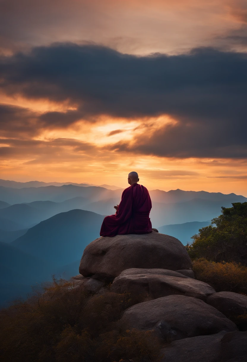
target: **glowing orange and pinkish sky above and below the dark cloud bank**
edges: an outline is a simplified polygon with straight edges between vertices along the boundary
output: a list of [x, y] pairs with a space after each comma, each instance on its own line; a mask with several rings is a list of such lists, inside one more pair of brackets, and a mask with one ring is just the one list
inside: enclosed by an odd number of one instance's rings
[[[26, 8], [22, 13], [21, 3]], [[3, 25], [0, 27], [0, 49], [5, 58], [16, 51], [29, 52], [33, 46], [64, 41], [95, 43], [135, 55], [186, 54], [199, 46], [246, 52], [247, 41], [236, 41], [247, 39], [245, 1], [45, 0], [42, 8], [38, 1], [21, 3], [11, 0], [1, 5], [9, 22], [9, 26], [5, 24], [6, 31]], [[0, 85], [3, 83], [0, 78]], [[78, 110], [80, 102], [72, 96], [61, 100], [49, 95], [34, 97], [13, 86], [2, 87], [1, 105], [18, 107], [20, 118], [17, 112], [16, 118], [10, 119], [12, 126], [6, 127], [3, 121], [0, 130], [0, 178], [124, 188], [127, 174], [137, 171], [140, 182], [149, 189], [179, 188], [247, 196], [245, 156], [213, 157], [211, 152], [208, 156], [162, 156], [153, 148], [142, 151], [140, 145], [155, 142], [156, 135], [159, 138], [169, 127], [180, 127], [181, 120], [172, 113], [123, 117], [102, 112], [66, 125], [38, 126], [37, 119], [42, 115], [66, 115]], [[190, 120], [186, 122], [190, 127]]]

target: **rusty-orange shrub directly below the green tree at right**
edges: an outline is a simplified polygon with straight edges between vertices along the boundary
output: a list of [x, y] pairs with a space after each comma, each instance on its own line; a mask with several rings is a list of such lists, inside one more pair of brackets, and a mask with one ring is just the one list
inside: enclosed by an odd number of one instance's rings
[[231, 291], [247, 294], [247, 267], [235, 262], [211, 262], [199, 259], [193, 262], [198, 280], [211, 285], [217, 292]]

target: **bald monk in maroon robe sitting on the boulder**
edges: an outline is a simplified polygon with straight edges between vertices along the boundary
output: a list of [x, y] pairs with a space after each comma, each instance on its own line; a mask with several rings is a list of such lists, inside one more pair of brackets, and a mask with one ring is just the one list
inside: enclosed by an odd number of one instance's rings
[[149, 219], [152, 208], [151, 199], [146, 187], [138, 185], [138, 181], [137, 172], [130, 172], [128, 175], [130, 186], [123, 190], [120, 204], [114, 206], [116, 214], [104, 218], [100, 236], [152, 232]]

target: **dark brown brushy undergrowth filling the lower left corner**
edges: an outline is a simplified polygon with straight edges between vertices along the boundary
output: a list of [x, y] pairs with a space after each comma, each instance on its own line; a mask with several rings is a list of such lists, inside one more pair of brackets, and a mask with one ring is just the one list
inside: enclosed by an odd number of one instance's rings
[[129, 294], [89, 295], [78, 285], [53, 280], [25, 302], [0, 312], [3, 362], [112, 362], [158, 360], [159, 341], [151, 331], [121, 331], [123, 311], [142, 300]]

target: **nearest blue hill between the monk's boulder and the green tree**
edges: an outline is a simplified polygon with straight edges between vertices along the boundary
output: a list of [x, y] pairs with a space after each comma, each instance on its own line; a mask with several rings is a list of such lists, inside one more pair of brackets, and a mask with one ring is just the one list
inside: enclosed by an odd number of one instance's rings
[[208, 226], [211, 221], [198, 222], [193, 221], [184, 224], [172, 224], [172, 225], [164, 225], [158, 228], [159, 232], [162, 234], [167, 234], [176, 237], [180, 240], [183, 245], [186, 245], [188, 242], [190, 243], [191, 236], [198, 233], [198, 230], [202, 227]]

